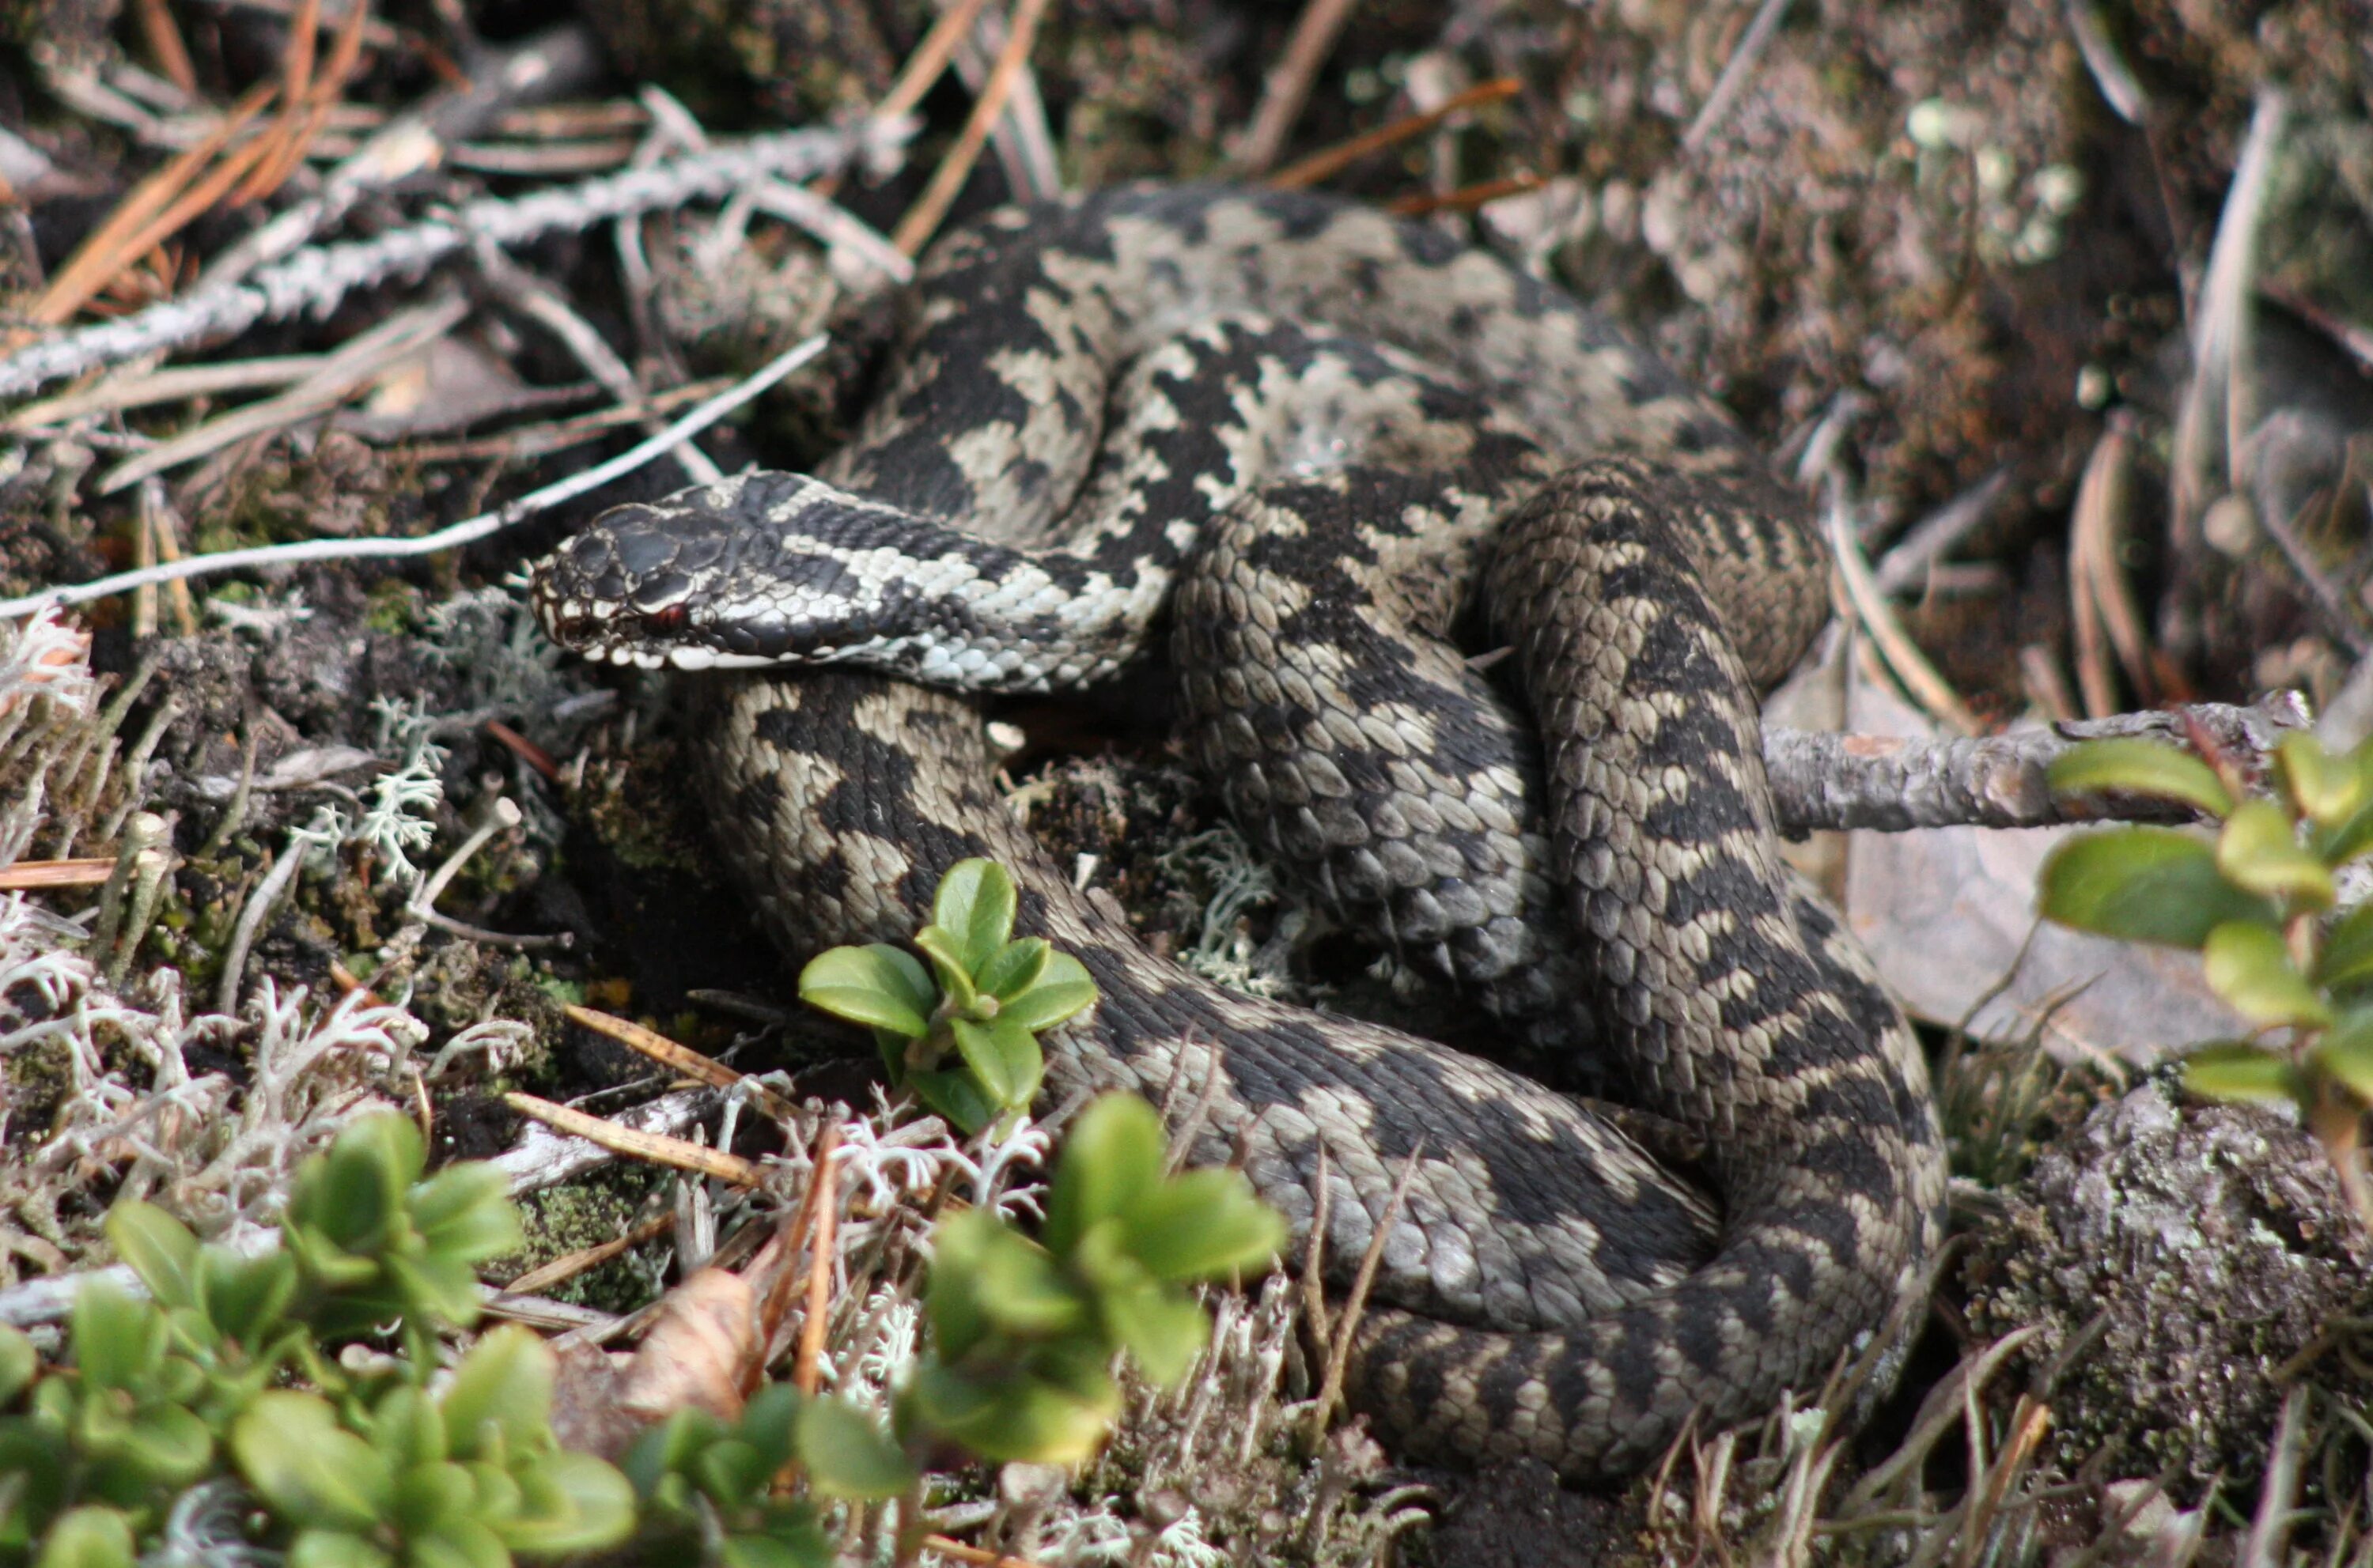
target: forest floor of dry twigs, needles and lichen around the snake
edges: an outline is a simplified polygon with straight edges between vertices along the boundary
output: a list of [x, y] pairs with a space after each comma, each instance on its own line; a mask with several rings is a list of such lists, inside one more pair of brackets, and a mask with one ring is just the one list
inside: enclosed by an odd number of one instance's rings
[[[515, 593], [688, 470], [501, 508], [821, 332], [698, 436], [724, 472], [812, 463], [906, 259], [1016, 195], [1315, 185], [1628, 323], [1872, 562], [1884, 605], [1784, 697], [1803, 724], [2297, 688], [2328, 738], [2373, 731], [2352, 0], [973, 9], [940, 78], [916, 71], [925, 0], [0, 0], [0, 595], [332, 541], [97, 598], [0, 659], [0, 887], [24, 894], [0, 906], [0, 1317], [55, 1321], [55, 1283], [109, 1262], [116, 1196], [252, 1231], [330, 1129], [392, 1103], [439, 1158], [505, 1160], [532, 1245], [489, 1276], [536, 1276], [515, 1314], [617, 1345], [693, 1264], [750, 1257], [826, 1124], [857, 1129], [831, 1355], [888, 1355], [923, 1231], [899, 1188], [980, 1150], [899, 1132], [871, 1046], [802, 1015], [717, 894], [667, 683], [562, 659]], [[278, 97], [242, 102], [259, 85]], [[985, 93], [1004, 109], [966, 173]], [[911, 140], [864, 130], [883, 107]], [[683, 173], [783, 128], [814, 147]], [[861, 159], [819, 183], [826, 142]], [[669, 195], [603, 206], [636, 168]], [[399, 256], [430, 230], [437, 254]], [[308, 270], [337, 242], [380, 244], [351, 287]], [[93, 325], [242, 282], [285, 299], [131, 346]], [[484, 515], [448, 550], [377, 548]], [[1213, 977], [1471, 1037], [1381, 954], [1289, 939], [1139, 697], [999, 714], [1061, 861], [1094, 856]], [[1872, 942], [1932, 1046], [1955, 1243], [1860, 1430], [1780, 1411], [1597, 1492], [1417, 1471], [1357, 1426], [1310, 1433], [1272, 1288], [1229, 1298], [1191, 1388], [1139, 1390], [1082, 1475], [973, 1473], [937, 1528], [1044, 1563], [2361, 1561], [2373, 1243], [2321, 1148], [2162, 1070], [2216, 1032], [2197, 973], [2091, 946], [1998, 984], [2031, 958], [2043, 840], [1984, 866], [1970, 837], [1870, 840], [1808, 859], [1858, 928], [1941, 887], [1970, 925]], [[721, 1122], [589, 1008], [785, 1075], [797, 1113]], [[600, 1155], [522, 1096], [660, 1141]]]

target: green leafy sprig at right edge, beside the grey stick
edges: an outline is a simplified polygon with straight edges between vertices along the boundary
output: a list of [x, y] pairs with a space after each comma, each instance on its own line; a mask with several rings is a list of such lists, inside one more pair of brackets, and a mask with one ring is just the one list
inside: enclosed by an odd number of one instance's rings
[[2209, 989], [2254, 1034], [2193, 1051], [2183, 1082], [2224, 1101], [2288, 1101], [2373, 1224], [2361, 1172], [2373, 1105], [2373, 901], [2333, 913], [2340, 871], [2373, 854], [2373, 742], [2345, 757], [2285, 735], [2273, 797], [2152, 740], [2093, 740], [2050, 769], [2062, 795], [2126, 792], [2216, 818], [2214, 840], [2110, 828], [2060, 844], [2038, 906], [2053, 920], [2200, 954]]

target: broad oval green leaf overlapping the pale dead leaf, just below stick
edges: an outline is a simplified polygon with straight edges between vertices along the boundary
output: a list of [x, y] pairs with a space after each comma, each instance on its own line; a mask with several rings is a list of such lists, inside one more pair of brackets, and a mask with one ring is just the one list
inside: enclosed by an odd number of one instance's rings
[[2110, 828], [2057, 844], [2043, 861], [2046, 918], [2126, 942], [2197, 949], [2228, 920], [2276, 925], [2266, 899], [2216, 871], [2216, 852], [2174, 828]]

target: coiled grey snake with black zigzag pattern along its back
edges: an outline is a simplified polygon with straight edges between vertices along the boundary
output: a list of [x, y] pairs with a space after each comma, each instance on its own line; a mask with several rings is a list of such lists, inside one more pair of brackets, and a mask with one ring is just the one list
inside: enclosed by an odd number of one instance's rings
[[[807, 667], [693, 681], [698, 788], [781, 942], [902, 939], [994, 856], [1101, 987], [1058, 1065], [1186, 1084], [1196, 1158], [1239, 1158], [1296, 1248], [1324, 1212], [1336, 1283], [1410, 1167], [1350, 1390], [1414, 1457], [1618, 1475], [1875, 1336], [1898, 1359], [1941, 1139], [1908, 1025], [1777, 859], [1756, 690], [1825, 560], [1706, 399], [1433, 228], [1222, 187], [952, 235], [885, 375], [816, 477], [615, 508], [534, 576], [591, 657]], [[1711, 1198], [1519, 1072], [1153, 958], [1046, 861], [954, 693], [1094, 683], [1163, 626], [1248, 837], [1590, 1053]]]

